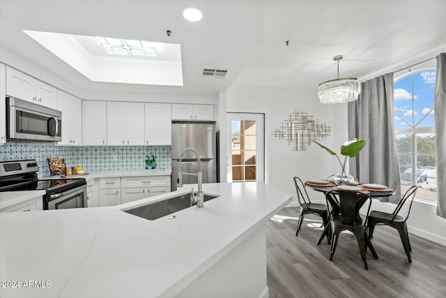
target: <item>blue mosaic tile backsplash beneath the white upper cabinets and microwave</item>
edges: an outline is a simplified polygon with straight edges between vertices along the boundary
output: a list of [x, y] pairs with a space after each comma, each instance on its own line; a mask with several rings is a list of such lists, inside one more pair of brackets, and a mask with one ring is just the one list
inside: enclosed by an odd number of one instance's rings
[[68, 167], [81, 166], [88, 171], [143, 170], [146, 156], [154, 155], [157, 168], [171, 169], [170, 146], [62, 147], [49, 144], [8, 142], [0, 145], [0, 161], [36, 159], [38, 177], [48, 177], [47, 158], [64, 157]]

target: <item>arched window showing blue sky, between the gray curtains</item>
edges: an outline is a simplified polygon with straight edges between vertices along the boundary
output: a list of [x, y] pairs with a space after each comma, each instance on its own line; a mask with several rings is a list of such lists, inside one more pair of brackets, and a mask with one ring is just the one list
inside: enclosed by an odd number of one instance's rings
[[394, 116], [401, 192], [437, 200], [433, 96], [436, 70], [408, 73], [394, 83]]

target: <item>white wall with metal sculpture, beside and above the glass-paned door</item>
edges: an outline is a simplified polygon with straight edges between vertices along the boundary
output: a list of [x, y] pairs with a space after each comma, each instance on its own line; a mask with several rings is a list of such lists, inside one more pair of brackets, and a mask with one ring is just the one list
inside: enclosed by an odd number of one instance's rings
[[[293, 176], [302, 180], [321, 179], [340, 171], [337, 159], [316, 144], [306, 151], [294, 151], [286, 140], [279, 140], [271, 134], [291, 112], [307, 112], [314, 115], [319, 123], [332, 126], [332, 135], [321, 142], [339, 152], [347, 138], [346, 104], [321, 104], [316, 86], [305, 90], [233, 86], [226, 92], [226, 102], [228, 112], [265, 114], [266, 183], [292, 194], [294, 201], [291, 204], [297, 200]], [[321, 196], [316, 192], [311, 195]]]

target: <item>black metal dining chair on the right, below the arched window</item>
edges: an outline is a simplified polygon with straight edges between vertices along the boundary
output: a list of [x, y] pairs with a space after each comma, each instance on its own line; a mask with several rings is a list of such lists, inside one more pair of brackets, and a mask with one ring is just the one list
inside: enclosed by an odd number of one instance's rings
[[[401, 197], [401, 200], [397, 204], [397, 207], [394, 209], [392, 213], [382, 212], [382, 211], [371, 211], [368, 218], [367, 223], [367, 232], [369, 234], [369, 238], [371, 239], [374, 234], [375, 225], [389, 225], [390, 227], [396, 229], [399, 233], [399, 237], [401, 238], [401, 242], [403, 243], [404, 251], [406, 252], [407, 258], [409, 262], [412, 262], [412, 258], [410, 258], [410, 251], [412, 248], [410, 247], [409, 234], [407, 231], [407, 218], [410, 214], [410, 209], [412, 208], [413, 198], [415, 198], [415, 193], [417, 193], [418, 186], [410, 187], [406, 193]], [[401, 209], [404, 204], [410, 200], [409, 208], [407, 210], [406, 216], [403, 217], [400, 214]]]

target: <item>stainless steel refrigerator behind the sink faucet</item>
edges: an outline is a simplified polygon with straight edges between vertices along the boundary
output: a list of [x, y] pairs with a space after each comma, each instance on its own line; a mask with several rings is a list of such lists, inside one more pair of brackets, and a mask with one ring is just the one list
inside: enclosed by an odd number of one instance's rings
[[[215, 124], [175, 122], [172, 124], [172, 191], [176, 191], [180, 154], [186, 147], [194, 147], [199, 152], [203, 183], [217, 182]], [[181, 170], [187, 173], [197, 173], [197, 157], [192, 151], [188, 151], [183, 156]], [[197, 182], [197, 176], [183, 175], [183, 184], [197, 184]]]

